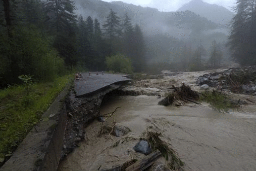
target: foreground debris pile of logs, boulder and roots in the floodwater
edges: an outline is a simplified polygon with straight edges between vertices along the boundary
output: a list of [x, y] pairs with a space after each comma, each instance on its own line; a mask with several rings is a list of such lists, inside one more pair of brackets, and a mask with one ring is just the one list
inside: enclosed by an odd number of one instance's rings
[[[184, 163], [176, 156], [176, 152], [159, 138], [160, 135], [157, 132], [146, 131], [141, 137], [142, 140], [134, 146], [133, 149], [136, 152], [145, 154], [144, 158], [140, 160], [132, 158], [120, 166], [113, 166], [111, 169], [101, 171], [170, 171], [169, 169], [183, 171]], [[130, 138], [123, 137], [106, 149], [114, 148]], [[161, 157], [167, 161], [166, 165], [158, 161]]]

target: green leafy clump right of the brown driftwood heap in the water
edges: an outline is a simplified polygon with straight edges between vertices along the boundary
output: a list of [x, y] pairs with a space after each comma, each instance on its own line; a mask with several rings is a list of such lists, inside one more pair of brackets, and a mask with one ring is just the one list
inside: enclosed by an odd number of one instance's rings
[[210, 105], [222, 112], [227, 112], [229, 108], [235, 108], [237, 107], [236, 105], [233, 105], [228, 96], [216, 91], [216, 90], [212, 90], [212, 91], [205, 91], [202, 93], [202, 96], [200, 97], [201, 101], [205, 101], [207, 103], [210, 103]]

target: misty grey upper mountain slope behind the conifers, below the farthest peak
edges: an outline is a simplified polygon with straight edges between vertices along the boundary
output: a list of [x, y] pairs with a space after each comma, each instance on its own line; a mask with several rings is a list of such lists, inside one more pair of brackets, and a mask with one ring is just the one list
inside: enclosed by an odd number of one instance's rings
[[75, 0], [77, 13], [83, 17], [98, 18], [101, 24], [106, 20], [110, 9], [122, 18], [128, 13], [133, 24], [138, 24], [147, 35], [169, 34], [179, 39], [188, 39], [210, 30], [222, 32], [223, 26], [213, 23], [194, 12], [159, 12], [155, 8], [141, 7], [121, 1]]

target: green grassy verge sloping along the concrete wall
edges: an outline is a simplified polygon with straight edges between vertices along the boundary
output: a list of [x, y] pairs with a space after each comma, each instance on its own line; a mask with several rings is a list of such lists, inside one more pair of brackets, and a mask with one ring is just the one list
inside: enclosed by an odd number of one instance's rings
[[[27, 98], [24, 86], [0, 90], [0, 158], [11, 154], [57, 95], [73, 80], [72, 74], [53, 82], [35, 83]], [[28, 101], [29, 99], [29, 101]]]

